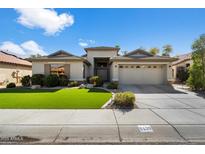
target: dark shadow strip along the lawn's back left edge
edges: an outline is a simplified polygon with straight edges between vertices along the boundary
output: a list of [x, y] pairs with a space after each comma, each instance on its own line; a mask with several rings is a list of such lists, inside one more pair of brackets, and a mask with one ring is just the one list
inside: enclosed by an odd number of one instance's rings
[[61, 89], [30, 89], [30, 88], [8, 88], [8, 89], [0, 89], [1, 93], [48, 93], [48, 92], [56, 92]]

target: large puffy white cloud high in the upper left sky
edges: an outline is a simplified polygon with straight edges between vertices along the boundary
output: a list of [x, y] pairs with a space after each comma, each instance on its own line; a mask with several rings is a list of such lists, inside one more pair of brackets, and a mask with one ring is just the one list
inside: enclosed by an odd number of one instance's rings
[[20, 14], [17, 21], [27, 28], [44, 29], [46, 35], [55, 35], [74, 23], [68, 13], [59, 14], [54, 9], [16, 9]]

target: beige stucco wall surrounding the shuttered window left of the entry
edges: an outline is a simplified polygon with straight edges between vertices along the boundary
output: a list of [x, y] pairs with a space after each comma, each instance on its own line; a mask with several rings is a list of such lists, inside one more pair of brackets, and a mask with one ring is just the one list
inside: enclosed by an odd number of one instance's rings
[[32, 74], [44, 74], [44, 64], [69, 64], [70, 65], [70, 80], [82, 81], [83, 78], [83, 62], [33, 62]]

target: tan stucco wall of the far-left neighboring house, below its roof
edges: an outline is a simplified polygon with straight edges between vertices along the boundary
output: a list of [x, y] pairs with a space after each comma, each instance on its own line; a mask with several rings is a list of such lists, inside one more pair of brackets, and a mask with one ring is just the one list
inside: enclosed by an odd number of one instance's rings
[[0, 82], [8, 80], [9, 82], [16, 83], [16, 78], [12, 77], [12, 73], [16, 71], [19, 71], [19, 77], [23, 77], [25, 75], [31, 76], [32, 74], [31, 67], [0, 63]]

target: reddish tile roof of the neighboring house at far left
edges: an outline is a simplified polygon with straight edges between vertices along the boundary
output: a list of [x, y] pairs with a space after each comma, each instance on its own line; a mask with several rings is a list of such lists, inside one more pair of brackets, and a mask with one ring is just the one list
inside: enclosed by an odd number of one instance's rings
[[19, 58], [15, 55], [6, 53], [4, 51], [0, 51], [0, 62], [16, 64], [16, 65], [31, 66], [31, 63], [29, 61]]

